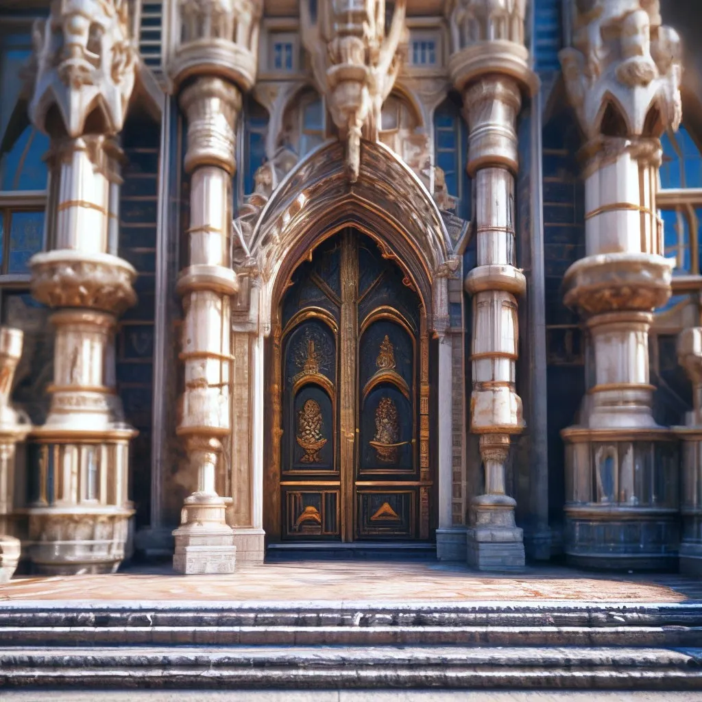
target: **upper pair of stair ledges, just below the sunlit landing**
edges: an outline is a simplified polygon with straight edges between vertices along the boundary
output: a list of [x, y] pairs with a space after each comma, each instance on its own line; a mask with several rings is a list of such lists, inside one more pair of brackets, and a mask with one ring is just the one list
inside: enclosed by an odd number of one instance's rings
[[0, 603], [0, 644], [702, 646], [702, 604]]

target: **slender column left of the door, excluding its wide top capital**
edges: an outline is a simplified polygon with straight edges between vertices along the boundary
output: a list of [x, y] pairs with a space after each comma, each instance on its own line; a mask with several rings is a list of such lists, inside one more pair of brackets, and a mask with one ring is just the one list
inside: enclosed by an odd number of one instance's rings
[[185, 393], [177, 433], [197, 470], [197, 491], [185, 500], [173, 568], [180, 573], [234, 570], [234, 533], [225, 519], [227, 501], [215, 478], [231, 430], [231, 296], [237, 277], [230, 265], [234, 126], [241, 109], [237, 88], [199, 77], [180, 97], [188, 119], [185, 170], [190, 187], [190, 265], [180, 273], [185, 322], [180, 354]]

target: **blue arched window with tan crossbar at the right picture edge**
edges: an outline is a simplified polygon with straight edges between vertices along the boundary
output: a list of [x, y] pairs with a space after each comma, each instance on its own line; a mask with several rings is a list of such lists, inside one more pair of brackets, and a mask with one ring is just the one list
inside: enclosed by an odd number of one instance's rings
[[700, 272], [702, 236], [702, 157], [684, 125], [661, 138], [661, 190], [658, 207], [663, 218], [665, 256], [675, 257], [674, 275]]

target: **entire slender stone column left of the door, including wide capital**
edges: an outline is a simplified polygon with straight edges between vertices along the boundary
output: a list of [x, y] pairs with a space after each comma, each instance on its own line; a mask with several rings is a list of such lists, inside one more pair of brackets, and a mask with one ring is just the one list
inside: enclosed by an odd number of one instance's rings
[[[188, 265], [177, 291], [183, 296], [181, 342], [185, 392], [177, 433], [183, 437], [197, 489], [185, 499], [173, 536], [173, 568], [184, 574], [234, 570], [234, 531], [227, 524], [231, 496], [216, 478], [223, 440], [231, 432], [232, 176], [241, 91], [256, 77], [260, 2], [224, 0], [180, 4], [181, 43], [171, 74], [187, 116], [185, 171], [191, 173]], [[232, 486], [232, 490], [237, 486]]]

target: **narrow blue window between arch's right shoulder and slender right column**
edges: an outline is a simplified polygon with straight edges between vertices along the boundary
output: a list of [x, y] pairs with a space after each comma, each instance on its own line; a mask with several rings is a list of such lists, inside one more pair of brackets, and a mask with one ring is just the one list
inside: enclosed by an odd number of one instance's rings
[[444, 171], [446, 190], [458, 202], [456, 214], [470, 218], [470, 178], [465, 172], [468, 130], [457, 95], [449, 95], [434, 112], [435, 165]]

